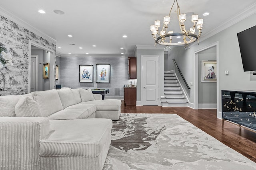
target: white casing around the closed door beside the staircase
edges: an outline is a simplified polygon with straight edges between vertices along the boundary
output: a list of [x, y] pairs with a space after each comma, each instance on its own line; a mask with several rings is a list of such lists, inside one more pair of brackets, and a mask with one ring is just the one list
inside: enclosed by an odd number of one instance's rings
[[144, 106], [143, 104], [143, 58], [144, 57], [157, 57], [158, 58], [158, 106], [161, 106], [160, 102], [160, 80], [159, 80], [159, 73], [160, 73], [160, 66], [159, 66], [159, 55], [141, 55], [141, 105]]

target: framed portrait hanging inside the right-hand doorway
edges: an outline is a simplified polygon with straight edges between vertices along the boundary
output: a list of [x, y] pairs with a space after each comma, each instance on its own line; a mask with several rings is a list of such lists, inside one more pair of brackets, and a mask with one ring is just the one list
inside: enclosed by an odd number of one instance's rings
[[217, 62], [216, 61], [201, 61], [201, 82], [216, 82], [217, 80]]

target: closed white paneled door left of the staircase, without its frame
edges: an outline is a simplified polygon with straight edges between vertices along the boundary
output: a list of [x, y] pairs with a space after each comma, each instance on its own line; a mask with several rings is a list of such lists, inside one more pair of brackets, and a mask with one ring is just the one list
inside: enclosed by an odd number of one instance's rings
[[143, 57], [143, 105], [158, 106], [158, 57]]

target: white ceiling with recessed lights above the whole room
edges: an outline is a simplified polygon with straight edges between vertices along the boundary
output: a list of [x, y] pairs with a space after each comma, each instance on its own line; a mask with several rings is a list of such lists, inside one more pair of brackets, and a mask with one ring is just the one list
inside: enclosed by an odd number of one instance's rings
[[[154, 46], [150, 25], [153, 25], [155, 20], [162, 21], [164, 16], [168, 16], [173, 2], [173, 0], [1, 0], [0, 10], [55, 39], [56, 51], [61, 56], [66, 56], [68, 53], [76, 56], [86, 56], [86, 53], [92, 56], [122, 56], [121, 53], [124, 53], [125, 56], [130, 56], [134, 53], [135, 45]], [[202, 39], [225, 28], [225, 24], [228, 25], [232, 23], [231, 21], [246, 15], [247, 11], [252, 11], [251, 8], [256, 8], [255, 0], [178, 0], [178, 3], [181, 13], [194, 12], [199, 18], [204, 19]], [[38, 13], [41, 9], [46, 14]], [[53, 10], [62, 10], [65, 14], [58, 15]], [[210, 15], [203, 16], [204, 12], [209, 12]], [[171, 14], [171, 18], [173, 18], [171, 23], [174, 21], [178, 25], [175, 13]], [[185, 22], [187, 29], [190, 20], [187, 17]], [[69, 34], [73, 37], [68, 37]], [[128, 37], [123, 38], [123, 35]]]

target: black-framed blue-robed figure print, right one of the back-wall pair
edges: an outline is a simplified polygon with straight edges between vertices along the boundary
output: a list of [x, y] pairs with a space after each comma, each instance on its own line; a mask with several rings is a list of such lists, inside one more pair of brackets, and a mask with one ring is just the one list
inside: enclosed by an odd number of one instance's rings
[[110, 83], [110, 64], [96, 64], [96, 83]]

